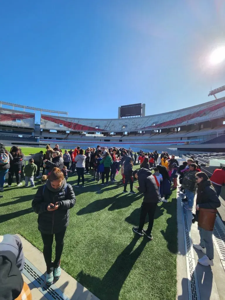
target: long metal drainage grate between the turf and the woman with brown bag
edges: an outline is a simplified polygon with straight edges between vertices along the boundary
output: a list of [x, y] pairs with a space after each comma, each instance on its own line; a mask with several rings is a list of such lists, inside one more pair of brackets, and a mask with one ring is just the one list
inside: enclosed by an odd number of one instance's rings
[[[178, 200], [180, 197], [178, 196]], [[198, 279], [195, 270], [195, 259], [192, 247], [192, 241], [190, 236], [190, 226], [187, 217], [187, 211], [184, 209], [183, 202], [182, 206], [182, 221], [184, 230], [184, 246], [186, 253], [186, 266], [187, 266], [187, 285], [188, 285], [188, 297], [189, 300], [200, 300]]]

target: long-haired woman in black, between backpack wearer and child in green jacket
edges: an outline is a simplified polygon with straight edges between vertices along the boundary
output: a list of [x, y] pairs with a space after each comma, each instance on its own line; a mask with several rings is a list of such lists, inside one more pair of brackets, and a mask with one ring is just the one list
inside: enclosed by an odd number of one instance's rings
[[16, 176], [17, 186], [19, 187], [22, 185], [22, 183], [20, 183], [22, 158], [21, 158], [21, 153], [19, 151], [19, 147], [13, 146], [10, 150], [10, 154], [12, 155], [13, 160], [10, 161], [9, 178], [8, 178], [7, 187], [11, 187], [14, 173]]

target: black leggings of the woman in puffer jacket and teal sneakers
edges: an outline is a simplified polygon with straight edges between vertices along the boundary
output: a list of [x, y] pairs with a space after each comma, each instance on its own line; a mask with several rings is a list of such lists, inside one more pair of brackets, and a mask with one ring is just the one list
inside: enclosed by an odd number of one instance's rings
[[62, 255], [63, 245], [64, 245], [64, 235], [66, 228], [62, 231], [55, 233], [55, 260], [52, 262], [52, 243], [54, 234], [45, 234], [41, 232], [41, 237], [43, 240], [44, 248], [44, 260], [47, 267], [47, 273], [51, 273], [54, 268], [58, 268], [60, 265], [60, 258]]

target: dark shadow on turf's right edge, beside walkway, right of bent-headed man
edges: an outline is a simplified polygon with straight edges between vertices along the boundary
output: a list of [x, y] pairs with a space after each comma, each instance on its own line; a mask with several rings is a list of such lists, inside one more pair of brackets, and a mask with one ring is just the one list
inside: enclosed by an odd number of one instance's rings
[[162, 207], [170, 214], [171, 217], [167, 219], [166, 230], [161, 230], [162, 235], [167, 241], [167, 248], [172, 253], [177, 253], [177, 199], [173, 198], [171, 202], [164, 203]]

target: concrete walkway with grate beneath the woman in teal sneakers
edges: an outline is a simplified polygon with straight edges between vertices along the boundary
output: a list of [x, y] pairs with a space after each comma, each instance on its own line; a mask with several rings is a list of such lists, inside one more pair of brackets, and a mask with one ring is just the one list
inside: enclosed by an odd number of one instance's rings
[[[21, 235], [18, 236], [22, 241], [26, 258], [23, 278], [31, 289], [32, 300], [99, 300], [63, 270], [61, 270], [59, 280], [54, 281], [53, 285], [48, 288], [44, 283], [46, 265], [43, 253]], [[39, 282], [41, 282], [40, 285]]]

